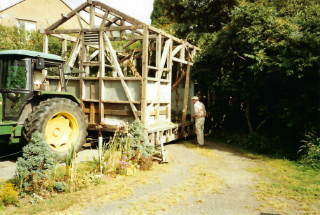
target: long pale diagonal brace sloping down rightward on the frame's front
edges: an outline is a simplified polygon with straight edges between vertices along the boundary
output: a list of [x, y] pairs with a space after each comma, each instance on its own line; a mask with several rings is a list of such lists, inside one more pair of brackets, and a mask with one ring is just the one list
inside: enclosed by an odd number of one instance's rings
[[129, 91], [129, 87], [128, 87], [128, 85], [126, 85], [126, 82], [124, 82], [124, 75], [123, 75], [122, 70], [120, 68], [120, 65], [119, 65], [119, 63], [117, 61], [117, 56], [115, 55], [115, 51], [112, 48], [112, 45], [110, 43], [110, 40], [109, 40], [108, 36], [104, 32], [103, 32], [103, 38], [104, 38], [104, 40], [105, 40], [105, 42], [107, 44], [107, 47], [108, 47], [108, 50], [109, 50], [109, 53], [110, 53], [110, 57], [112, 59], [112, 64], [113, 64], [113, 66], [115, 66], [115, 69], [116, 69], [116, 71], [117, 71], [117, 73], [118, 73], [118, 75], [120, 77], [120, 80], [121, 80], [121, 83], [122, 83], [122, 87], [124, 87], [124, 92], [126, 93], [126, 96], [127, 96], [128, 100], [130, 102], [130, 106], [132, 108], [133, 114], [136, 117], [136, 119], [140, 120], [138, 115], [136, 114], [137, 108], [132, 103], [133, 98], [132, 98], [131, 93]]

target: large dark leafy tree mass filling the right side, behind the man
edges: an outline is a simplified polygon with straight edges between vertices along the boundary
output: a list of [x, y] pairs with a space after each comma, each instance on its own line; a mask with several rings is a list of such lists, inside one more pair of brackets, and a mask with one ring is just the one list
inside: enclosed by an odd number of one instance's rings
[[198, 86], [215, 91], [217, 112], [229, 103], [224, 126], [236, 121], [233, 129], [263, 131], [293, 151], [319, 128], [319, 9], [319, 1], [242, 1], [232, 11], [192, 69]]

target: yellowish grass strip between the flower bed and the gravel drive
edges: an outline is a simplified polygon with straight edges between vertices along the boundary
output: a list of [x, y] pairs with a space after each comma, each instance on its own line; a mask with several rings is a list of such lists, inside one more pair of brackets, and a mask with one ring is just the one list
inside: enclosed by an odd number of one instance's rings
[[[78, 165], [78, 174], [93, 168], [92, 163], [83, 162]], [[64, 167], [57, 168], [57, 176], [63, 175]], [[134, 194], [133, 188], [139, 184], [161, 183], [157, 175], [168, 171], [168, 165], [154, 163], [151, 171], [138, 172], [130, 177], [116, 177], [105, 179], [99, 186], [89, 186], [73, 193], [61, 193], [48, 196], [45, 201], [38, 201], [34, 205], [29, 203], [32, 198], [20, 200], [20, 207], [8, 207], [6, 214], [76, 214], [90, 206], [110, 204], [116, 200], [126, 200]], [[81, 173], [82, 172], [82, 173]]]

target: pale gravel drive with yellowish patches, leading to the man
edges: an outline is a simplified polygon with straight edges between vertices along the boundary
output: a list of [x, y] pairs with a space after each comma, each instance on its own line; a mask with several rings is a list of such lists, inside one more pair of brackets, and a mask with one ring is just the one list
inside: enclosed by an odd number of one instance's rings
[[[247, 168], [263, 165], [228, 147], [195, 140], [168, 144], [170, 163], [157, 183], [134, 188], [126, 200], [89, 207], [82, 214], [281, 214], [257, 201], [259, 175]], [[291, 213], [292, 214], [292, 213]], [[293, 213], [294, 214], [294, 213]]]

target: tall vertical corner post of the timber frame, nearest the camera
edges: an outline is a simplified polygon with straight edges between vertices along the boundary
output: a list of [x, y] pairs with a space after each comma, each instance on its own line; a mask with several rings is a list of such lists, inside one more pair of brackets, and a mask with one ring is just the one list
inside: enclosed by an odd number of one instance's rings
[[141, 123], [147, 127], [147, 66], [149, 50], [149, 31], [148, 26], [143, 27], [143, 73], [141, 78]]

